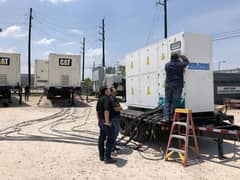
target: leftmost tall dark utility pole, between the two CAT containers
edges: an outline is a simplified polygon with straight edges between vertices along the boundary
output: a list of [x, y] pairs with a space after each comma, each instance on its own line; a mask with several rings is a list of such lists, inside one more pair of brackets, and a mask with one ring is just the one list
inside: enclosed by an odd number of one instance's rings
[[32, 8], [29, 15], [29, 30], [28, 30], [28, 86], [31, 88], [31, 30], [32, 30]]

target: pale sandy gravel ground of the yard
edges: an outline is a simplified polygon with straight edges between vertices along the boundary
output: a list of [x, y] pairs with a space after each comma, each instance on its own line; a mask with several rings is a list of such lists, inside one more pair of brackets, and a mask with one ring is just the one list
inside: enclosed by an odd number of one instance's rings
[[[15, 102], [0, 107], [0, 179], [239, 179], [240, 143], [225, 141], [228, 158], [219, 160], [216, 142], [207, 138], [199, 139], [201, 160], [186, 168], [141, 156], [158, 158], [164, 138], [143, 154], [122, 147], [116, 164], [104, 164], [97, 152], [95, 104], [78, 102], [71, 108], [32, 97], [23, 107]], [[240, 111], [229, 113], [240, 125]]]

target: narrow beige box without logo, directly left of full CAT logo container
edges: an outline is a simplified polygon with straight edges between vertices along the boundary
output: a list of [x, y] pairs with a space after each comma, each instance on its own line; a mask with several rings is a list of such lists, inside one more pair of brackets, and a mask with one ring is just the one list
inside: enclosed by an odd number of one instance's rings
[[47, 87], [48, 85], [48, 61], [35, 60], [35, 86]]

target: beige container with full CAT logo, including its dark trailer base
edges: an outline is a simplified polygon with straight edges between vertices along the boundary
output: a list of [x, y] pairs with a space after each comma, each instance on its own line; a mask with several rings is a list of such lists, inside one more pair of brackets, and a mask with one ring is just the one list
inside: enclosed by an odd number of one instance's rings
[[80, 55], [49, 54], [48, 98], [70, 98], [80, 88], [80, 62]]

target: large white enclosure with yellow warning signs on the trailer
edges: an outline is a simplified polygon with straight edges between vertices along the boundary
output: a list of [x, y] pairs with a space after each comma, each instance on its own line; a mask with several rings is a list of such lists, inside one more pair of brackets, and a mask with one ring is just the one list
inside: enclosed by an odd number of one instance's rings
[[164, 101], [165, 64], [174, 52], [190, 61], [184, 73], [185, 108], [193, 112], [214, 111], [212, 39], [189, 32], [178, 33], [126, 56], [128, 106], [154, 109]]

